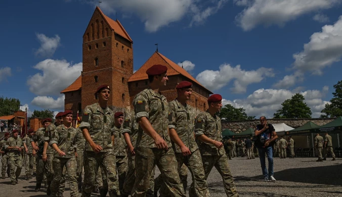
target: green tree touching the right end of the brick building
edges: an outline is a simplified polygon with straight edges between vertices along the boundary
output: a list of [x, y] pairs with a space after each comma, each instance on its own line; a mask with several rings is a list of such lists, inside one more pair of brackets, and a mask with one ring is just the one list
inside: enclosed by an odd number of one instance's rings
[[245, 109], [234, 108], [232, 105], [227, 104], [219, 113], [220, 118], [226, 118], [226, 120], [252, 120], [255, 116], [247, 116]]

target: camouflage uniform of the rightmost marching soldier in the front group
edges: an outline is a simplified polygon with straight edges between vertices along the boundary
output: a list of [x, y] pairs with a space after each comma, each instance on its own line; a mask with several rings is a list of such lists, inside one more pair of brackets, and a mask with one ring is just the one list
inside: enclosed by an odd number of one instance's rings
[[[211, 116], [207, 111], [199, 114], [196, 118], [195, 133], [197, 137], [206, 135], [210, 139], [222, 141], [221, 119], [217, 115]], [[223, 148], [218, 149], [215, 145], [200, 140], [198, 142], [205, 180], [208, 178], [212, 167], [215, 166], [222, 176], [227, 196], [238, 196], [225, 150]]]

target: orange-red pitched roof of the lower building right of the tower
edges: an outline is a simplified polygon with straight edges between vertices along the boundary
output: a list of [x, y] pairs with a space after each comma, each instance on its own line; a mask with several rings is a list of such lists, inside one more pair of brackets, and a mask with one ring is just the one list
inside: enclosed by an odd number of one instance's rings
[[[167, 67], [167, 75], [171, 76], [171, 75], [183, 75], [185, 77], [187, 77], [188, 79], [190, 79], [191, 81], [197, 83], [198, 85], [202, 86], [203, 88], [205, 88], [202, 84], [200, 84], [193, 76], [191, 76], [186, 70], [184, 70], [182, 67], [180, 67], [178, 64], [174, 63], [173, 61], [169, 60], [168, 58], [166, 58], [165, 56], [163, 56], [162, 54], [160, 54], [159, 52], [155, 52], [146, 62], [145, 64], [140, 67], [139, 70], [137, 70], [128, 80], [129, 82], [132, 81], [139, 81], [139, 80], [144, 80], [144, 79], [148, 79], [148, 76], [146, 74], [146, 70], [149, 69], [151, 66], [155, 65], [155, 64], [161, 64], [161, 65], [165, 65]], [[205, 88], [206, 90], [208, 90], [207, 88]], [[212, 92], [210, 90], [208, 90], [210, 92], [210, 94], [212, 94]]]

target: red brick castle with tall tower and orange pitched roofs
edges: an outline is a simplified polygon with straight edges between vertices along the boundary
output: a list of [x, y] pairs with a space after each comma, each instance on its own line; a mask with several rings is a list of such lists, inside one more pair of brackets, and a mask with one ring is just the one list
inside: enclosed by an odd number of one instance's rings
[[121, 23], [103, 14], [99, 7], [83, 34], [83, 69], [81, 75], [61, 93], [65, 94], [64, 109], [82, 110], [97, 102], [96, 88], [108, 84], [111, 94], [108, 105], [114, 111], [131, 110], [134, 96], [145, 88], [149, 81], [145, 73], [154, 64], [167, 66], [169, 81], [161, 89], [167, 101], [177, 97], [177, 83], [187, 80], [193, 83], [193, 94], [189, 104], [198, 110], [207, 109], [207, 98], [212, 94], [182, 67], [159, 52], [154, 54], [133, 73], [133, 40]]

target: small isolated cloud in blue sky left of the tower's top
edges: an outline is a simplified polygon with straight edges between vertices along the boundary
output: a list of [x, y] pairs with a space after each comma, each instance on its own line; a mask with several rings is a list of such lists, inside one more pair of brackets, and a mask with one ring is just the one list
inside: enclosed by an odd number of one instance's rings
[[40, 47], [35, 52], [35, 55], [41, 57], [53, 56], [57, 47], [60, 46], [61, 38], [58, 35], [55, 35], [55, 37], [48, 37], [42, 33], [36, 33], [36, 36], [40, 42]]

